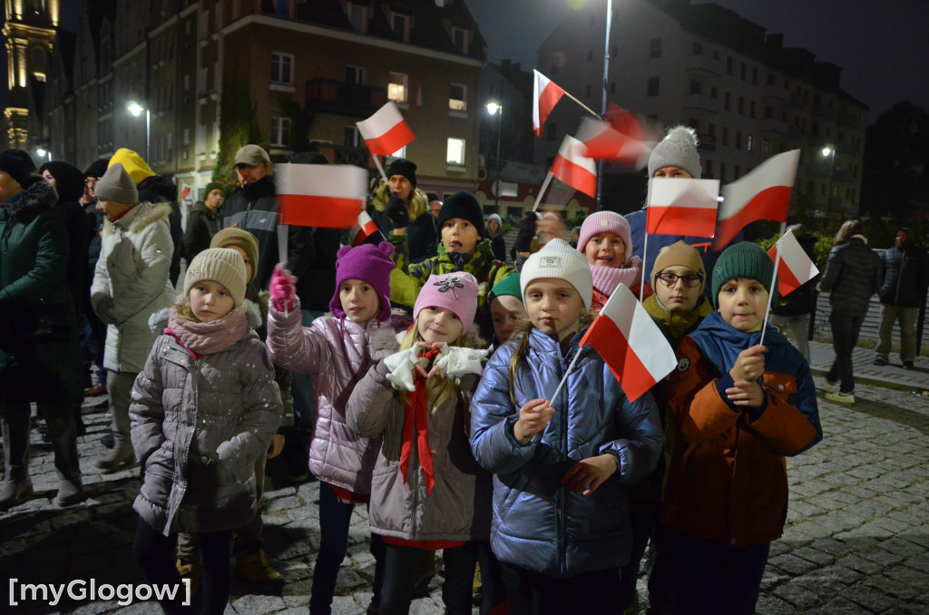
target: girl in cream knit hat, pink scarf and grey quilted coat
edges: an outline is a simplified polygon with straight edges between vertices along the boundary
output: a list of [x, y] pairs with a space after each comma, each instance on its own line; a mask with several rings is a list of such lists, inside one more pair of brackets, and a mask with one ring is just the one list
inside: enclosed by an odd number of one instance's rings
[[[203, 613], [226, 608], [232, 530], [255, 516], [255, 460], [281, 422], [281, 394], [244, 296], [242, 256], [197, 255], [129, 408], [145, 469], [134, 556], [149, 582], [178, 584], [177, 532], [199, 532]], [[181, 599], [162, 606], [174, 612]]]

